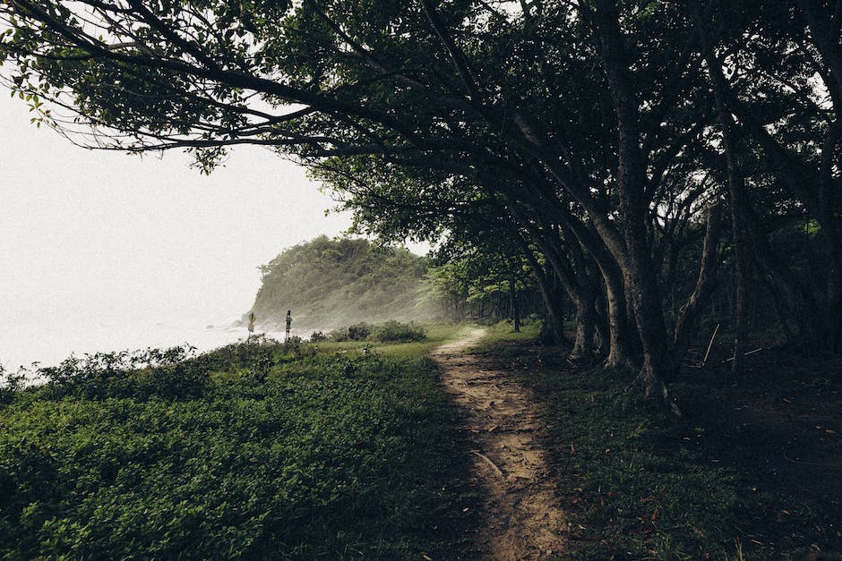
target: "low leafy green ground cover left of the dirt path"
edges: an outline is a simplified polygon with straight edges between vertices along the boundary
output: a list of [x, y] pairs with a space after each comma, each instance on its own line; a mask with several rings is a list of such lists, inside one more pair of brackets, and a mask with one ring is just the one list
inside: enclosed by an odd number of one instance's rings
[[48, 372], [0, 405], [0, 557], [446, 557], [468, 455], [425, 351], [448, 329]]

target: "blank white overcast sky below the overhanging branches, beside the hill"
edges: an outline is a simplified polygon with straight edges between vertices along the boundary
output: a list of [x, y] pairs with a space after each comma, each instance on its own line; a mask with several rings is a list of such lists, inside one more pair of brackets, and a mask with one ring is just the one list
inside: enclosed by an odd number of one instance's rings
[[79, 149], [29, 117], [21, 100], [0, 96], [5, 324], [230, 319], [253, 302], [259, 265], [349, 225], [348, 216], [324, 216], [333, 203], [302, 168], [265, 149], [236, 149], [207, 177], [182, 153]]

